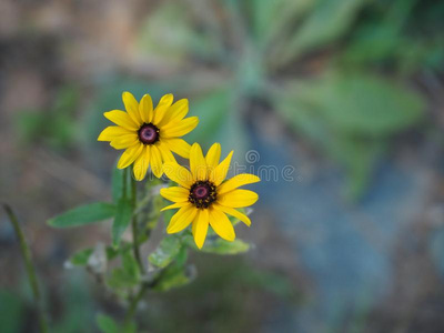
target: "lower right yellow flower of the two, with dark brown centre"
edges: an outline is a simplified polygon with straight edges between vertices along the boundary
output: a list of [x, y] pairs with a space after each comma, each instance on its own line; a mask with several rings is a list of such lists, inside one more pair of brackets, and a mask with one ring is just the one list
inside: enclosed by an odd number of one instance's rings
[[230, 168], [231, 152], [221, 163], [221, 145], [214, 143], [206, 157], [198, 143], [191, 147], [190, 170], [178, 163], [165, 163], [165, 174], [180, 186], [162, 189], [160, 194], [174, 204], [163, 210], [179, 209], [171, 218], [168, 233], [176, 233], [192, 223], [194, 242], [199, 249], [203, 246], [209, 225], [226, 241], [234, 241], [235, 233], [226, 214], [238, 218], [250, 226], [250, 219], [236, 210], [252, 205], [258, 194], [239, 186], [259, 182], [259, 176], [243, 173], [224, 182]]

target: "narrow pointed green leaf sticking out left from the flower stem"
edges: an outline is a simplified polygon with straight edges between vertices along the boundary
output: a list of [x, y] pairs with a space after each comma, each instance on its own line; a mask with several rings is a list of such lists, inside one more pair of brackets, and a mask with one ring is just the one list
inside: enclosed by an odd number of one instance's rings
[[107, 202], [97, 202], [72, 209], [59, 216], [52, 218], [48, 224], [54, 228], [84, 225], [110, 219], [115, 214], [115, 205]]

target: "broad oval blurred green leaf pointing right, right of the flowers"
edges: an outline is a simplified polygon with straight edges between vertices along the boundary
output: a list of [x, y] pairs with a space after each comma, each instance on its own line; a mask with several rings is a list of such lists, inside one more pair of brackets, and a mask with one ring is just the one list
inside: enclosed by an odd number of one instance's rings
[[341, 133], [390, 135], [421, 119], [420, 94], [370, 74], [330, 74], [300, 85], [296, 95]]

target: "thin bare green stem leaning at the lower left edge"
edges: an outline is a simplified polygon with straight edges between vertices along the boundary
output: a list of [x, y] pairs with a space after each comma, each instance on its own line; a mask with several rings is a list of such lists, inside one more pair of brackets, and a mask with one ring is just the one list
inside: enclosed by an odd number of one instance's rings
[[40, 331], [42, 333], [47, 333], [48, 332], [47, 316], [44, 314], [41, 292], [39, 289], [39, 283], [37, 281], [36, 268], [32, 264], [31, 250], [28, 246], [27, 240], [24, 239], [23, 231], [20, 228], [19, 220], [17, 219], [12, 209], [8, 204], [3, 204], [3, 209], [9, 218], [9, 221], [11, 222], [11, 224], [14, 229], [16, 235], [20, 243], [20, 251], [21, 251], [21, 254], [23, 255], [24, 266], [27, 270], [28, 279], [29, 279], [29, 284], [31, 285], [34, 301], [36, 301], [36, 304], [37, 304], [38, 311], [39, 311]]

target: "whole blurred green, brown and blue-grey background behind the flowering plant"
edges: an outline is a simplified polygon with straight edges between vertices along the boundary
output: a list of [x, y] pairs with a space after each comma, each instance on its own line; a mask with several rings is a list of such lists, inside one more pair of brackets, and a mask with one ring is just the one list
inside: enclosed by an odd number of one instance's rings
[[[30, 241], [52, 332], [123, 315], [63, 265], [109, 242], [109, 223], [46, 221], [110, 199], [119, 153], [97, 137], [125, 90], [188, 98], [189, 142], [279, 170], [238, 228], [255, 248], [194, 254], [193, 283], [148, 295], [143, 332], [444, 332], [443, 1], [2, 0], [0, 201]], [[3, 213], [0, 269], [0, 331], [37, 332]]]

